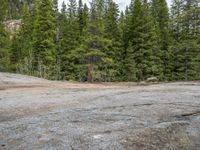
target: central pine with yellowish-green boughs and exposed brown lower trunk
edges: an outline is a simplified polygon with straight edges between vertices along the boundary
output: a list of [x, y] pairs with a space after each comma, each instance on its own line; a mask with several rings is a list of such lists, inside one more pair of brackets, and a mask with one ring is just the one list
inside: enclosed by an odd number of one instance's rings
[[[91, 3], [91, 14], [86, 30], [86, 38], [80, 46], [84, 53], [84, 64], [87, 67], [87, 81], [110, 81], [113, 75], [112, 58], [107, 54], [111, 41], [104, 37], [103, 31], [103, 9], [102, 1], [93, 0]], [[97, 5], [98, 4], [98, 5]]]

